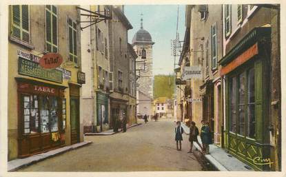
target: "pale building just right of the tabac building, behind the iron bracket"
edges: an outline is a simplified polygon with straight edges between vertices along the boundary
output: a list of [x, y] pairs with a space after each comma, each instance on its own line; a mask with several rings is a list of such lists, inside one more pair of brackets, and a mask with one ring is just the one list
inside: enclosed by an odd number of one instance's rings
[[[110, 16], [111, 6], [82, 6], [85, 10]], [[81, 10], [84, 12], [83, 10]], [[86, 13], [86, 12], [85, 12]], [[89, 21], [90, 17], [82, 16], [81, 21]], [[85, 25], [82, 32], [83, 67], [86, 70], [88, 84], [83, 86], [83, 120], [84, 132], [102, 132], [110, 129], [110, 51], [109, 28], [105, 19], [95, 25]], [[111, 87], [110, 87], [111, 86]]]

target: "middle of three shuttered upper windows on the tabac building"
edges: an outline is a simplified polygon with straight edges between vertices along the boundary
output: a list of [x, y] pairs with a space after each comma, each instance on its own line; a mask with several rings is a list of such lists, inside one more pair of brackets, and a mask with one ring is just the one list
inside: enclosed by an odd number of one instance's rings
[[58, 12], [57, 7], [45, 6], [45, 49], [58, 52]]

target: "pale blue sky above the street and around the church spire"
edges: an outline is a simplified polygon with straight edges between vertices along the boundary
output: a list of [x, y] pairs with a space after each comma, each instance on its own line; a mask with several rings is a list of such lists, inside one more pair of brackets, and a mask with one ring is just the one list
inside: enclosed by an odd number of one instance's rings
[[[132, 43], [134, 34], [141, 26], [147, 30], [154, 41], [153, 74], [174, 74], [174, 56], [171, 55], [171, 39], [176, 39], [176, 21], [178, 13], [178, 33], [180, 41], [185, 35], [185, 6], [176, 5], [126, 5], [125, 16], [133, 26], [128, 30], [128, 42]], [[176, 59], [178, 61], [178, 57]], [[176, 62], [178, 63], [178, 62]]]

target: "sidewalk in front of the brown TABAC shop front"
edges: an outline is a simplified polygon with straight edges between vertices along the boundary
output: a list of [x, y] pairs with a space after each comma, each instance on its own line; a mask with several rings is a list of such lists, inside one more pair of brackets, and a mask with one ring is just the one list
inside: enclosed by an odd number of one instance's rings
[[85, 145], [90, 145], [90, 143], [92, 143], [92, 142], [91, 141], [83, 141], [81, 143], [76, 143], [74, 145], [69, 145], [69, 146], [58, 148], [58, 149], [50, 150], [48, 152], [36, 154], [34, 156], [30, 156], [27, 158], [17, 158], [14, 160], [10, 160], [10, 161], [8, 161], [8, 171], [16, 171], [17, 169], [20, 169], [21, 167], [26, 167], [26, 166], [32, 165], [34, 163], [37, 163], [41, 160], [44, 160], [46, 158], [50, 158], [52, 156], [63, 154], [64, 152], [68, 152], [68, 151], [71, 151], [73, 149], [83, 147]]

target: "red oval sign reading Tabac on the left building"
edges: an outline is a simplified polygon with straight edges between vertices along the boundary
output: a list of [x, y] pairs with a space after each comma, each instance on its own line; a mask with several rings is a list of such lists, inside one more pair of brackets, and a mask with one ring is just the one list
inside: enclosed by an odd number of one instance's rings
[[39, 63], [45, 69], [54, 69], [63, 63], [63, 57], [60, 54], [50, 52], [41, 57]]

